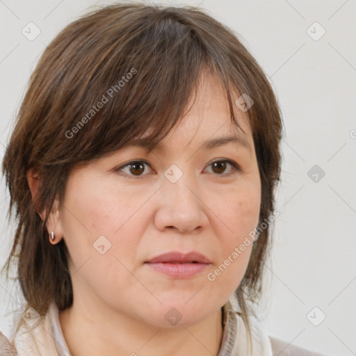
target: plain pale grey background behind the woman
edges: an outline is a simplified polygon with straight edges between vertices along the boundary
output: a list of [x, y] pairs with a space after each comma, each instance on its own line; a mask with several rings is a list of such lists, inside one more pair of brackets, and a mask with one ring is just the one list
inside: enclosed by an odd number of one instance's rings
[[[0, 0], [1, 159], [29, 75], [46, 45], [90, 6], [112, 2]], [[239, 33], [270, 77], [282, 108], [286, 136], [276, 207], [281, 215], [273, 258], [266, 264], [264, 326], [304, 348], [356, 355], [355, 0], [174, 3], [200, 4]], [[41, 31], [32, 41], [22, 34], [29, 22]], [[322, 29], [314, 22], [326, 31], [318, 40]], [[308, 175], [314, 165], [316, 172]], [[2, 180], [1, 266], [13, 237], [7, 207]], [[22, 296], [3, 276], [0, 287], [0, 330], [10, 337], [11, 312]], [[323, 314], [325, 320], [313, 325]]]

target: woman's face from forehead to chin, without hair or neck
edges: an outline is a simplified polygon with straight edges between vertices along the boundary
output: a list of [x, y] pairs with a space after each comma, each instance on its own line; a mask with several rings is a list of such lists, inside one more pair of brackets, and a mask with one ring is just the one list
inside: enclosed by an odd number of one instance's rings
[[[74, 300], [159, 327], [172, 326], [170, 315], [193, 325], [225, 304], [247, 268], [252, 243], [236, 248], [257, 227], [261, 202], [252, 132], [237, 115], [245, 133], [207, 79], [161, 149], [130, 145], [71, 172], [55, 232], [70, 252]], [[147, 263], [167, 252], [207, 260]]]

